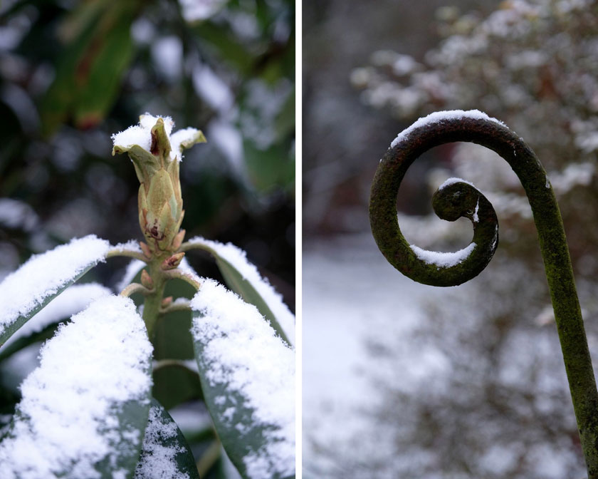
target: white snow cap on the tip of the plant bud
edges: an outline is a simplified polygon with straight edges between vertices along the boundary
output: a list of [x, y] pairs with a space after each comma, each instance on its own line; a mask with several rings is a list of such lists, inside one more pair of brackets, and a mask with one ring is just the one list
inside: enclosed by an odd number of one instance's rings
[[[164, 130], [166, 131], [171, 148], [170, 160], [181, 161], [183, 158], [182, 148], [189, 148], [192, 143], [199, 140], [201, 132], [196, 130], [196, 128], [184, 128], [171, 135], [172, 128], [174, 128], [174, 121], [169, 116], [158, 117], [150, 115], [150, 113], [140, 115], [139, 125], [130, 126], [126, 130], [112, 135], [114, 146], [127, 151], [133, 145], [139, 145], [144, 150], [150, 151], [152, 148], [152, 128], [158, 118], [164, 120]], [[184, 145], [184, 143], [187, 143], [187, 145]]]

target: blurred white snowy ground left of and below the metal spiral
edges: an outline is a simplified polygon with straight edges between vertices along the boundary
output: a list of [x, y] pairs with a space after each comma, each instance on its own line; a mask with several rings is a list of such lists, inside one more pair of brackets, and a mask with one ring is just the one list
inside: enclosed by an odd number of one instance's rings
[[[367, 350], [367, 339], [407, 338], [421, 316], [421, 299], [438, 298], [443, 289], [422, 286], [390, 266], [371, 235], [306, 244], [303, 252], [303, 473], [322, 477], [336, 470], [338, 459], [351, 450], [384, 460], [379, 425], [367, 411], [382, 400], [372, 384], [375, 376], [397, 377], [380, 371]], [[417, 366], [402, 380], [421, 378], [442, 367], [435, 351], [417, 351]], [[423, 365], [423, 366], [422, 366]], [[405, 384], [406, 386], [406, 384]], [[387, 431], [389, 434], [391, 431]], [[370, 441], [370, 438], [376, 438]], [[390, 438], [388, 438], [390, 439]], [[390, 441], [392, 444], [392, 440]], [[335, 460], [337, 459], [337, 460]], [[341, 460], [342, 462], [342, 460]]]

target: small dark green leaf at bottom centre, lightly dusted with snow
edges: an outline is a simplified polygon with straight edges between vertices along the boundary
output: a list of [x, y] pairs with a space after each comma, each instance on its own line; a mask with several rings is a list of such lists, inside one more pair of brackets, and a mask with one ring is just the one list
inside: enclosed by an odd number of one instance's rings
[[199, 479], [187, 440], [154, 398], [135, 479]]

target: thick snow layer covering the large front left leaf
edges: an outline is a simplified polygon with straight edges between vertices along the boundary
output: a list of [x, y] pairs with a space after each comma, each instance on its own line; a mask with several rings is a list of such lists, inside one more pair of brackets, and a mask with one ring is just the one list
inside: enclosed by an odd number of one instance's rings
[[151, 354], [128, 298], [97, 299], [60, 326], [21, 385], [13, 426], [0, 443], [2, 477], [102, 477], [96, 464], [115, 463], [141, 440], [126, 431], [122, 441], [115, 415], [127, 401], [147, 401]]

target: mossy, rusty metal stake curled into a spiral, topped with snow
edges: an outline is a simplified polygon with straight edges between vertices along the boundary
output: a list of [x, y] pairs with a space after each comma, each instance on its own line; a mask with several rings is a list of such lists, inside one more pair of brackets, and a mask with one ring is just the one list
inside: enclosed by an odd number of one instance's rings
[[384, 257], [416, 282], [456, 286], [480, 274], [498, 244], [498, 221], [491, 203], [472, 185], [452, 182], [436, 191], [433, 200], [434, 211], [442, 219], [455, 221], [466, 217], [473, 223], [473, 239], [466, 257], [441, 265], [426, 262], [425, 254], [406, 242], [397, 220], [397, 194], [409, 165], [430, 148], [459, 141], [477, 143], [498, 153], [513, 168], [528, 195], [588, 479], [598, 479], [598, 392], [567, 239], [546, 172], [523, 138], [477, 110], [433, 113], [418, 120], [393, 142], [374, 176], [369, 203], [374, 238]]

